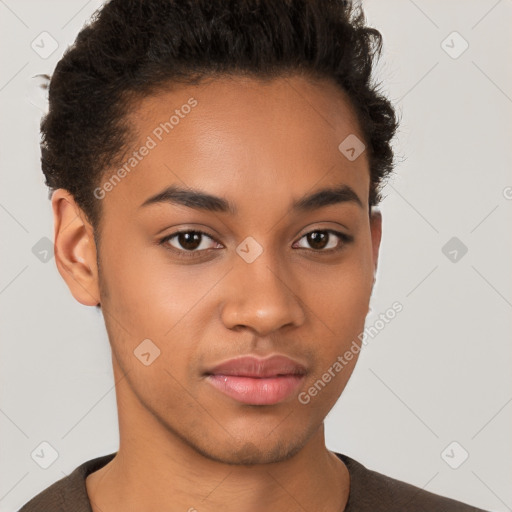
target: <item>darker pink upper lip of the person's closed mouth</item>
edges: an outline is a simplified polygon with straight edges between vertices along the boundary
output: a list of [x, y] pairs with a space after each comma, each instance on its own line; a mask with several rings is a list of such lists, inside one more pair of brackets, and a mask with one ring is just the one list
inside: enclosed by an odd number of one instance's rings
[[278, 375], [304, 375], [306, 368], [281, 354], [266, 358], [242, 356], [224, 361], [206, 372], [207, 375], [236, 375], [240, 377], [276, 377]]

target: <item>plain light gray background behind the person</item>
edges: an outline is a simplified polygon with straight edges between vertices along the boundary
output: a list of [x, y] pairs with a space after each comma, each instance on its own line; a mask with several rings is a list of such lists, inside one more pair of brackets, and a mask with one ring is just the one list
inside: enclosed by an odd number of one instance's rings
[[[1, 512], [118, 447], [103, 319], [73, 299], [51, 253], [31, 79], [51, 74], [100, 4], [0, 0]], [[403, 311], [364, 348], [327, 418], [328, 447], [512, 510], [512, 0], [363, 6], [384, 35], [377, 77], [403, 116], [367, 325], [395, 301]], [[58, 44], [50, 56], [43, 31]], [[48, 469], [31, 457], [43, 441], [58, 452]]]

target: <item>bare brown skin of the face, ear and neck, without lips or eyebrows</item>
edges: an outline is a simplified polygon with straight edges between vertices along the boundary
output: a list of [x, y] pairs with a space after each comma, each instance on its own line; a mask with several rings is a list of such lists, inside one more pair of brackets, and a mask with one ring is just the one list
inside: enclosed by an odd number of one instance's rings
[[[59, 272], [77, 301], [101, 304], [112, 348], [120, 445], [86, 480], [93, 511], [343, 510], [349, 474], [326, 448], [323, 422], [357, 356], [308, 404], [244, 405], [203, 372], [280, 353], [306, 366], [307, 391], [364, 330], [381, 214], [369, 214], [366, 152], [349, 161], [338, 150], [350, 134], [363, 140], [356, 116], [329, 81], [217, 77], [140, 101], [131, 149], [191, 96], [197, 106], [101, 200], [99, 250], [73, 197], [52, 198]], [[140, 208], [172, 184], [229, 199], [239, 213]], [[363, 207], [292, 212], [295, 199], [342, 184]], [[177, 256], [186, 252], [177, 237], [159, 244], [181, 228], [213, 237], [197, 259]], [[304, 235], [326, 229], [353, 241], [331, 235], [328, 247], [341, 250], [325, 254]], [[236, 252], [248, 236], [263, 248], [250, 264]], [[148, 338], [161, 353], [145, 366], [133, 351]]]

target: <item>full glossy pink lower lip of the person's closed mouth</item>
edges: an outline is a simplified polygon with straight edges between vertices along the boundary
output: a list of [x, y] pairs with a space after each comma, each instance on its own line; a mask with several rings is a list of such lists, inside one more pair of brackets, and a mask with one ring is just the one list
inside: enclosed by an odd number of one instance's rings
[[221, 393], [243, 404], [273, 405], [296, 392], [304, 376], [252, 378], [236, 375], [208, 375], [207, 380]]

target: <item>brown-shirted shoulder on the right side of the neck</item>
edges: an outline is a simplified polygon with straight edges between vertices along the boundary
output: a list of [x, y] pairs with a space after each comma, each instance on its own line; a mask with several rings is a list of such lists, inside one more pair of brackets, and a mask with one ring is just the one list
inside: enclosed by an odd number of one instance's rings
[[485, 512], [372, 471], [346, 455], [336, 455], [345, 463], [350, 474], [346, 512]]

